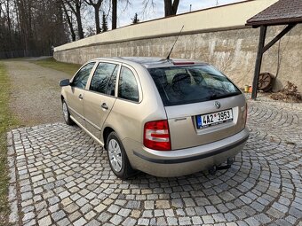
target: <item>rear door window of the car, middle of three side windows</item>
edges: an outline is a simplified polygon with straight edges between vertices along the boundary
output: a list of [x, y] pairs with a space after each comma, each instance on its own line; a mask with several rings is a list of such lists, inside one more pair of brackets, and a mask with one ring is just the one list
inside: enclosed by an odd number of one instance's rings
[[107, 93], [108, 83], [111, 75], [115, 74], [116, 68], [117, 65], [115, 64], [99, 63], [91, 79], [90, 90], [99, 93]]

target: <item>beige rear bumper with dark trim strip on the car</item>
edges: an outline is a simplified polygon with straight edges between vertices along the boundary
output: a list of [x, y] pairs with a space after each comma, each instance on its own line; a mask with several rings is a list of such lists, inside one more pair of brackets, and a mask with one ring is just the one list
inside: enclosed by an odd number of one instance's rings
[[131, 165], [150, 175], [171, 177], [193, 174], [219, 166], [241, 152], [249, 138], [248, 129], [234, 136], [187, 149], [159, 152], [143, 147], [143, 151], [132, 150]]

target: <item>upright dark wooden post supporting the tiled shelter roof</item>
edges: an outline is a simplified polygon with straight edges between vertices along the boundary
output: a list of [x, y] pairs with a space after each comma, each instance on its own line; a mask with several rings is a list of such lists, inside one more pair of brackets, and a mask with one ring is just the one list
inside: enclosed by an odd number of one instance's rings
[[260, 36], [259, 36], [259, 43], [258, 43], [258, 53], [256, 58], [256, 65], [255, 65], [255, 73], [254, 73], [254, 79], [253, 79], [253, 86], [252, 86], [252, 92], [251, 92], [251, 98], [256, 99], [257, 98], [257, 92], [258, 92], [258, 79], [262, 64], [262, 56], [263, 56], [263, 49], [266, 42], [266, 30], [267, 26], [261, 26], [260, 27]]

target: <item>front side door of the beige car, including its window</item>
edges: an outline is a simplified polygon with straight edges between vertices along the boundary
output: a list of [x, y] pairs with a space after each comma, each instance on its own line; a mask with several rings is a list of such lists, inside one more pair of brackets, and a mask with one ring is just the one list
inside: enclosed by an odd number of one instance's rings
[[85, 96], [85, 87], [88, 82], [91, 70], [95, 62], [89, 62], [76, 73], [70, 87], [67, 90], [67, 101], [68, 109], [72, 117], [80, 123], [83, 127], [85, 126], [84, 115], [83, 115], [83, 99]]

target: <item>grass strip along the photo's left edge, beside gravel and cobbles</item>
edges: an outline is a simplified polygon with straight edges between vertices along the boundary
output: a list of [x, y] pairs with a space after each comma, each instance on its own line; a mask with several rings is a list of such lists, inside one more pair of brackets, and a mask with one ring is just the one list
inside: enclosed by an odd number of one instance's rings
[[18, 126], [18, 121], [9, 109], [11, 84], [4, 64], [0, 62], [0, 224], [6, 225], [10, 208], [8, 206], [8, 168], [6, 133]]

